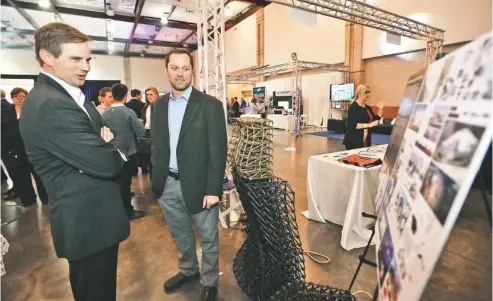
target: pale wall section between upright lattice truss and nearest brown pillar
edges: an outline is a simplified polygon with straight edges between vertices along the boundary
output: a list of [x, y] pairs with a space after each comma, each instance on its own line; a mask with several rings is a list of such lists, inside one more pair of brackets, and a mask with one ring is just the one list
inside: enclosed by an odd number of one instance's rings
[[256, 14], [226, 31], [226, 72], [257, 65]]

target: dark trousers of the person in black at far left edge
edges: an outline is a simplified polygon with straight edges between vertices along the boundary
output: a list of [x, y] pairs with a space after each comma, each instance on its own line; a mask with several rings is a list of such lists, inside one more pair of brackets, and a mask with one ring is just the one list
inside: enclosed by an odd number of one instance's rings
[[14, 183], [15, 192], [17, 192], [17, 195], [24, 206], [30, 206], [36, 203], [37, 199], [31, 174], [36, 182], [36, 188], [38, 189], [41, 202], [43, 202], [43, 204], [48, 204], [48, 193], [46, 192], [41, 178], [34, 171], [34, 167], [27, 159], [25, 153], [21, 153], [15, 157], [6, 154], [2, 157], [2, 161]]

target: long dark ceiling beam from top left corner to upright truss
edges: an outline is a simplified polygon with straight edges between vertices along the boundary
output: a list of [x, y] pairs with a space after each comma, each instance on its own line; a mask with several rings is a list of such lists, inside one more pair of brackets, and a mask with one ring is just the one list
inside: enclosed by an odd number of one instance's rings
[[[23, 2], [23, 1], [18, 1], [18, 0], [1, 0], [1, 3], [3, 6], [11, 6], [14, 8], [18, 7], [21, 9], [30, 9], [30, 10], [52, 12], [51, 8], [40, 7], [37, 3]], [[113, 17], [110, 17], [110, 16], [106, 15], [104, 13], [104, 11], [82, 10], [82, 9], [63, 7], [63, 6], [59, 6], [59, 5], [57, 5], [55, 8], [58, 11], [58, 13], [60, 13], [60, 14], [69, 14], [69, 15], [76, 15], [76, 16], [89, 17], [89, 18], [98, 18], [98, 19], [112, 19], [115, 21], [134, 23], [134, 16], [116, 15], [115, 14]], [[161, 19], [141, 17], [139, 20], [139, 24], [161, 26]], [[169, 20], [168, 24], [166, 24], [166, 27], [178, 28], [178, 29], [188, 29], [188, 30], [197, 30], [197, 24], [188, 23], [188, 22], [181, 22], [181, 21], [173, 21], [173, 20]]]

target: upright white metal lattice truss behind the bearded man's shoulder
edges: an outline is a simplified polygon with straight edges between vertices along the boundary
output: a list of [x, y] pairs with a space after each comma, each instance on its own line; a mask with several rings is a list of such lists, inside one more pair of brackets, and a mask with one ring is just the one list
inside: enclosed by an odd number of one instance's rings
[[224, 0], [199, 0], [197, 17], [198, 86], [222, 101], [227, 118]]

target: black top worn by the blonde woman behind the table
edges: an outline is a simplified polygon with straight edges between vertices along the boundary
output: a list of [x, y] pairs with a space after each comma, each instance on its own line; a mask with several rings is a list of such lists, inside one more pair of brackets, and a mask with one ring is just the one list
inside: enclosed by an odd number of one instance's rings
[[[348, 115], [346, 120], [346, 134], [344, 135], [343, 143], [349, 148], [360, 148], [363, 147], [363, 135], [364, 129], [356, 129], [358, 123], [369, 123], [370, 116], [367, 110], [369, 110], [372, 115], [373, 121], [380, 120], [382, 117], [378, 116], [373, 112], [370, 106], [365, 105], [363, 108], [356, 101], [353, 101], [349, 105]], [[368, 129], [368, 141], [371, 143], [371, 132], [372, 129]]]

